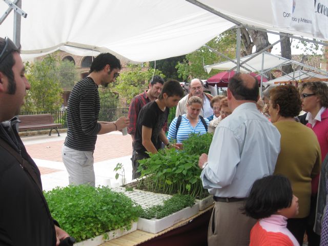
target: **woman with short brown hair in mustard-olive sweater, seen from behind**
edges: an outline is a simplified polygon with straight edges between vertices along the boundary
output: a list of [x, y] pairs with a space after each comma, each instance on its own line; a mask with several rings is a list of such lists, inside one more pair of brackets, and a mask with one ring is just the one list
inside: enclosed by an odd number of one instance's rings
[[268, 111], [281, 136], [274, 174], [288, 177], [299, 199], [299, 214], [287, 220], [287, 228], [302, 245], [310, 214], [311, 180], [320, 172], [320, 146], [314, 132], [294, 118], [301, 111], [301, 98], [296, 87], [273, 88]]

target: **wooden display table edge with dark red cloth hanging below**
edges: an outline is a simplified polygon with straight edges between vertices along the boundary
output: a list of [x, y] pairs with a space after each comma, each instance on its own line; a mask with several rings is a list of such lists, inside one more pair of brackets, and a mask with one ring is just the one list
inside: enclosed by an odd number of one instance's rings
[[180, 221], [174, 226], [156, 234], [137, 230], [125, 236], [110, 240], [101, 246], [133, 245], [207, 245], [207, 231], [214, 204], [189, 219]]

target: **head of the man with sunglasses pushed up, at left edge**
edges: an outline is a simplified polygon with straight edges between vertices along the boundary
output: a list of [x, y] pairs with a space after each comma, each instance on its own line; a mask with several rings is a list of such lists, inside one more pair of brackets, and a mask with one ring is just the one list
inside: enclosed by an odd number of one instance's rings
[[8, 38], [0, 37], [0, 122], [18, 115], [30, 84], [20, 49]]

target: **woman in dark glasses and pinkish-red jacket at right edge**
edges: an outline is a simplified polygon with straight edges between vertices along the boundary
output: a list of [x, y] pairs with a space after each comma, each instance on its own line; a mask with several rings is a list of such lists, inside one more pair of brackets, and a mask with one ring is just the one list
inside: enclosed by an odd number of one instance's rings
[[[324, 160], [325, 156], [328, 153], [328, 86], [321, 82], [306, 82], [301, 84], [299, 91], [301, 93], [302, 100], [302, 110], [308, 112], [306, 115], [306, 120], [308, 123], [306, 126], [311, 128], [316, 134], [320, 149], [321, 149], [321, 160]], [[322, 176], [323, 175], [323, 176]], [[324, 176], [327, 176], [326, 173], [321, 174], [321, 181], [324, 182]], [[312, 223], [311, 226], [315, 223], [314, 214], [317, 207], [317, 194], [318, 194], [318, 186], [319, 186], [319, 175], [316, 176], [315, 179], [312, 180]], [[321, 186], [321, 185], [320, 185]], [[325, 184], [323, 185], [325, 188]], [[322, 193], [322, 191], [319, 191]], [[319, 194], [318, 198], [318, 206], [319, 203], [325, 203], [325, 195], [324, 197]], [[320, 220], [321, 222], [321, 220]], [[316, 222], [317, 233], [320, 232], [320, 222]], [[328, 230], [328, 229], [326, 229]], [[315, 242], [319, 243], [319, 236], [314, 233]], [[310, 244], [309, 244], [310, 245]], [[319, 245], [319, 244], [318, 244]]]

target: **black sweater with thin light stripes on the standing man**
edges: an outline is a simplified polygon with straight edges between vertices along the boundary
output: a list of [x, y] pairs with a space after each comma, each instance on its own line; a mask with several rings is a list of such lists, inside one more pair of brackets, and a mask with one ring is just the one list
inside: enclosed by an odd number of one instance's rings
[[65, 145], [74, 150], [94, 151], [97, 133], [101, 126], [97, 122], [100, 110], [98, 86], [86, 77], [74, 86], [67, 107], [67, 137]]

